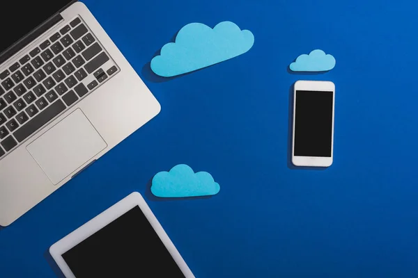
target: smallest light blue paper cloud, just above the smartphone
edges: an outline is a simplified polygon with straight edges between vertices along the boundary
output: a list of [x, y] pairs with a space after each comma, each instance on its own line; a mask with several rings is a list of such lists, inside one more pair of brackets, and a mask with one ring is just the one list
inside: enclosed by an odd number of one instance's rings
[[302, 54], [296, 61], [291, 63], [293, 72], [327, 72], [335, 67], [335, 58], [324, 51], [316, 49], [309, 55]]

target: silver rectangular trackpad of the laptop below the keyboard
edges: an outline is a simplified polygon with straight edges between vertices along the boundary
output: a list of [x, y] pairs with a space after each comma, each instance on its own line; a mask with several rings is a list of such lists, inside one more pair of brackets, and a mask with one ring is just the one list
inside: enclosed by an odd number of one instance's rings
[[58, 184], [106, 147], [98, 131], [77, 109], [26, 149], [52, 183]]

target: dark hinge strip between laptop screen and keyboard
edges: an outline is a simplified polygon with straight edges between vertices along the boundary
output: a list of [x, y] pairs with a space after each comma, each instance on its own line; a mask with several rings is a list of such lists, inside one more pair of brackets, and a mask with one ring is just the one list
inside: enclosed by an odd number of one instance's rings
[[66, 5], [65, 7], [61, 8], [61, 10], [59, 10], [59, 12], [56, 13], [56, 15], [49, 17], [47, 21], [45, 21], [44, 23], [40, 24], [40, 26], [33, 29], [31, 33], [26, 34], [23, 38], [21, 38], [20, 40], [12, 44], [10, 47], [8, 47], [8, 49], [3, 51], [0, 54], [0, 65], [4, 63], [4, 61], [8, 60], [8, 58], [10, 58], [11, 56], [17, 54], [17, 52], [19, 52], [21, 49], [26, 47], [26, 45], [33, 42], [33, 40], [36, 40], [36, 38], [40, 37], [43, 33], [48, 31], [55, 24], [61, 22], [61, 20], [63, 20], [63, 17], [61, 16], [60, 13], [66, 8], [68, 8], [69, 6], [71, 6], [72, 3], [75, 3], [75, 2], [77, 2], [77, 0], [70, 1], [70, 3], [68, 3], [68, 5]]

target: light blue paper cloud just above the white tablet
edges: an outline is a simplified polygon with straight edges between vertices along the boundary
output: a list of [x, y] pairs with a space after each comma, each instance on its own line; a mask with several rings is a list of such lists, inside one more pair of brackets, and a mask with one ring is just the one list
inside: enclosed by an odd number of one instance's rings
[[208, 172], [197, 172], [180, 164], [169, 172], [159, 172], [153, 177], [151, 192], [157, 197], [199, 197], [219, 193], [220, 186]]

